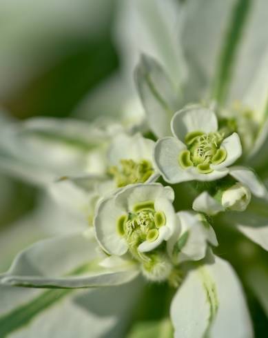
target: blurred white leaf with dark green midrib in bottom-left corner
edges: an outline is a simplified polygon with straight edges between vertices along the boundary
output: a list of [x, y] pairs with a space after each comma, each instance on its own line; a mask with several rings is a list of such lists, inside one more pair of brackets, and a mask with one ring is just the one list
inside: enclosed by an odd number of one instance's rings
[[143, 283], [91, 290], [0, 288], [0, 337], [123, 337]]

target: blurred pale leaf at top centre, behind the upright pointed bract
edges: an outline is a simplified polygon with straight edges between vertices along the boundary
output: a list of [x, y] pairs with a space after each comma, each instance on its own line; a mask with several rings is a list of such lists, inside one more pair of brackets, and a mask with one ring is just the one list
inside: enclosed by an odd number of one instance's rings
[[121, 1], [115, 37], [126, 85], [132, 81], [141, 53], [163, 64], [172, 82], [182, 83], [185, 61], [178, 43], [180, 10], [176, 0]]

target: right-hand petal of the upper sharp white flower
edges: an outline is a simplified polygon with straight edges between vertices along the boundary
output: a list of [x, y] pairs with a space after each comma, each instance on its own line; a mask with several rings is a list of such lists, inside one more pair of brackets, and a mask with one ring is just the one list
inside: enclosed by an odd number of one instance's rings
[[212, 164], [211, 167], [214, 170], [220, 170], [233, 164], [242, 155], [242, 146], [238, 134], [234, 132], [229, 137], [223, 140], [220, 148], [223, 148], [227, 152], [225, 161], [220, 164]]

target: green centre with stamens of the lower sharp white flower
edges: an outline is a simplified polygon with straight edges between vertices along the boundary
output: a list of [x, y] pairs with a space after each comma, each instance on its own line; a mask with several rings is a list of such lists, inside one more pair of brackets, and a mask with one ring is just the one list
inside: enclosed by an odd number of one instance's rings
[[119, 217], [116, 230], [127, 241], [130, 252], [143, 259], [143, 254], [137, 250], [138, 246], [143, 241], [155, 241], [159, 236], [159, 228], [165, 226], [165, 223], [164, 212], [154, 209], [154, 201], [145, 201], [136, 204], [133, 212]]

